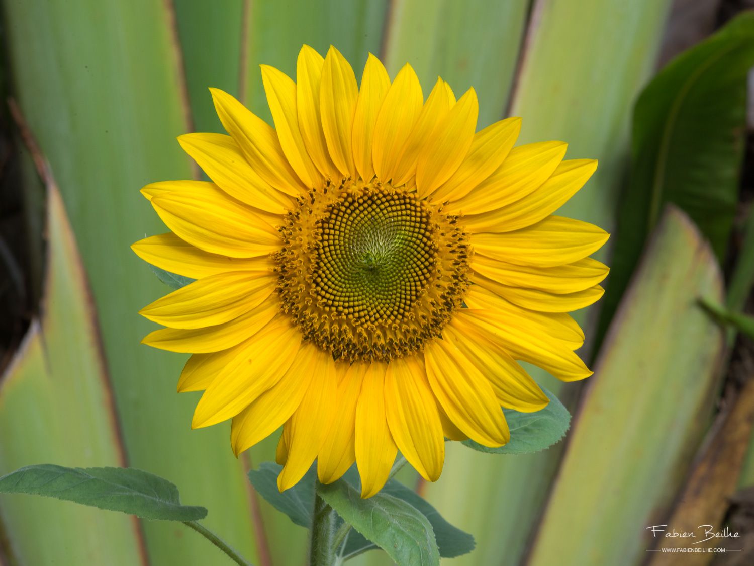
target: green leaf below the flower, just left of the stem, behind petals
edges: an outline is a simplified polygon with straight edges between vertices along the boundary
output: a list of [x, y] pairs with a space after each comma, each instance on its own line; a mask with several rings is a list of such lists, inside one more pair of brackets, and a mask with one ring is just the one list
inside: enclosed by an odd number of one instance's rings
[[249, 472], [249, 481], [257, 493], [268, 500], [275, 509], [285, 513], [290, 520], [304, 528], [311, 528], [311, 515], [314, 513], [314, 466], [293, 488], [282, 494], [277, 489], [277, 475], [283, 466], [272, 462], [262, 462], [259, 469]]

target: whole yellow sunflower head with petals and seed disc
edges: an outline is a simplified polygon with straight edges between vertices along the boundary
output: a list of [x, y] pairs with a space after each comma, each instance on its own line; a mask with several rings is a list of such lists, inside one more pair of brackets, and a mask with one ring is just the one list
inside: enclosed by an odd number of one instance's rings
[[589, 256], [608, 234], [552, 214], [596, 161], [514, 147], [520, 118], [476, 131], [473, 88], [438, 78], [425, 100], [411, 66], [391, 82], [372, 55], [360, 85], [308, 46], [296, 82], [262, 81], [274, 128], [210, 89], [229, 135], [178, 140], [211, 182], [142, 189], [170, 232], [133, 250], [196, 279], [141, 311], [166, 327], [144, 343], [192, 354], [192, 427], [231, 419], [239, 454], [282, 426], [281, 491], [355, 461], [370, 497], [399, 450], [435, 481], [445, 438], [509, 441], [502, 408], [547, 405], [519, 361], [591, 374], [567, 313], [602, 296]]

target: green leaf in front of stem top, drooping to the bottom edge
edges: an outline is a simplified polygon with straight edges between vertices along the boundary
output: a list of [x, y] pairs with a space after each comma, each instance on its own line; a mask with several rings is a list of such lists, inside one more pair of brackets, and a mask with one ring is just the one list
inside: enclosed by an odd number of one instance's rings
[[410, 503], [385, 491], [361, 499], [359, 491], [342, 479], [320, 485], [319, 494], [345, 522], [400, 566], [440, 564], [432, 525]]

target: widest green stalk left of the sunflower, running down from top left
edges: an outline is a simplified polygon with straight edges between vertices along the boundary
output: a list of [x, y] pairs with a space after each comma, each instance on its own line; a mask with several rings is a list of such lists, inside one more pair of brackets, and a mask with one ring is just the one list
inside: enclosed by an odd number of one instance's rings
[[[154, 325], [136, 313], [166, 289], [129, 245], [167, 231], [139, 188], [192, 176], [175, 141], [188, 130], [188, 109], [169, 5], [8, 0], [11, 82], [60, 184], [90, 276], [130, 466], [171, 478], [187, 500], [217, 509], [207, 527], [251, 557], [247, 481], [228, 428], [192, 432], [197, 396], [175, 392], [185, 356], [139, 344]], [[87, 402], [72, 406], [88, 410]], [[35, 406], [28, 400], [25, 409]], [[216, 561], [215, 549], [176, 536], [170, 524], [146, 522], [144, 532], [153, 564]]]

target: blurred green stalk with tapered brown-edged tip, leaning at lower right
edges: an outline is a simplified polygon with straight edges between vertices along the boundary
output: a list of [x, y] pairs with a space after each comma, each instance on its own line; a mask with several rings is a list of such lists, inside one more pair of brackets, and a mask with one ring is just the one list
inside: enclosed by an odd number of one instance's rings
[[722, 275], [700, 232], [671, 208], [600, 352], [532, 566], [645, 558], [645, 527], [662, 522], [685, 477], [725, 350], [697, 297], [722, 300]]

